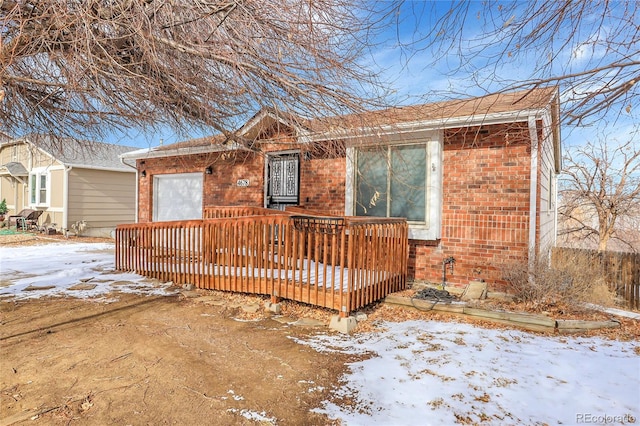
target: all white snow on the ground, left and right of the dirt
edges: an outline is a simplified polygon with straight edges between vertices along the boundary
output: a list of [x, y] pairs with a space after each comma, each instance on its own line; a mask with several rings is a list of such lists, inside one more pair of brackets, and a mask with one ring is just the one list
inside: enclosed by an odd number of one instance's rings
[[[166, 294], [166, 287], [115, 272], [113, 244], [0, 247], [1, 298], [95, 298], [114, 288]], [[345, 425], [632, 424], [640, 417], [638, 341], [437, 321], [381, 327], [297, 340], [317, 351], [363, 355], [318, 412]], [[242, 415], [277, 424], [267, 413]]]

